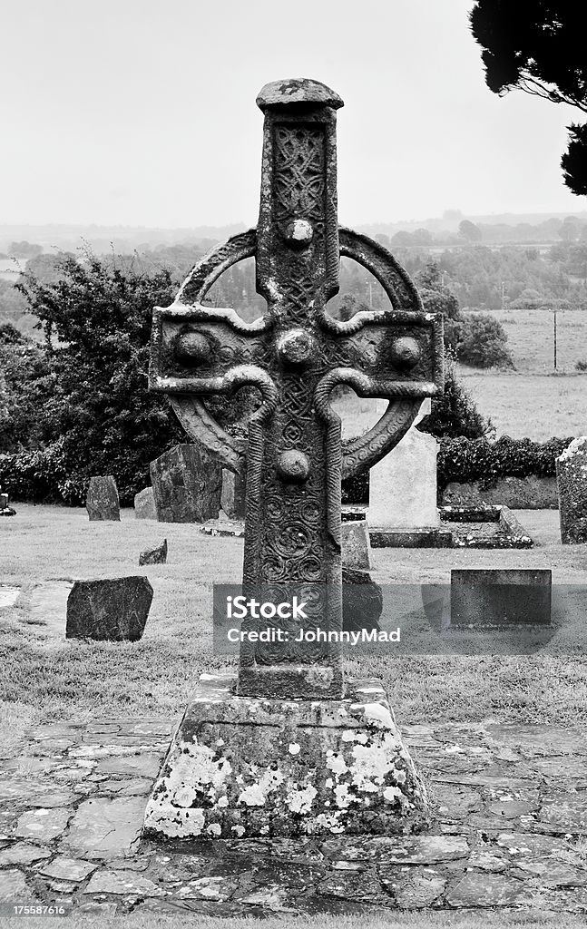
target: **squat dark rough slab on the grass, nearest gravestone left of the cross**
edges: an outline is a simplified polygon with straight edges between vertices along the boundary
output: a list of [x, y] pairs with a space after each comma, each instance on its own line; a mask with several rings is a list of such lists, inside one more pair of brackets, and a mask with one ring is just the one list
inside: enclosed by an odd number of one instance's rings
[[76, 581], [67, 600], [65, 637], [136, 642], [152, 598], [150, 582], [140, 576]]

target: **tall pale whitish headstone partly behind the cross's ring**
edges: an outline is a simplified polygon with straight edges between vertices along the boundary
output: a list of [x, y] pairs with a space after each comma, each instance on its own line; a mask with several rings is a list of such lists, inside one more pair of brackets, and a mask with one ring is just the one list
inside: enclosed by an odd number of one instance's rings
[[369, 525], [373, 530], [438, 526], [437, 448], [434, 436], [416, 425], [430, 412], [425, 399], [398, 445], [371, 469]]

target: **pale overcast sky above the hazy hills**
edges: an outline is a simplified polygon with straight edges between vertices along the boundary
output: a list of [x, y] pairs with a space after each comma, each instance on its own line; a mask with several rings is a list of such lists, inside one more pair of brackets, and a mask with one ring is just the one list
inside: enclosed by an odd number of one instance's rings
[[[514, 0], [513, 0], [514, 2]], [[338, 112], [346, 225], [585, 209], [580, 113], [484, 83], [471, 0], [14, 0], [2, 7], [0, 223], [254, 225], [268, 81]]]

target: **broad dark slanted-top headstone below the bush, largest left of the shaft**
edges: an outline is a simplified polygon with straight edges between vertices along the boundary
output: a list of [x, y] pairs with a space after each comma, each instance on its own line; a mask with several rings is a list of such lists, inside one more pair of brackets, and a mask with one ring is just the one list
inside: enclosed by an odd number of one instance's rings
[[150, 463], [160, 522], [202, 523], [220, 509], [222, 469], [200, 444], [176, 445]]

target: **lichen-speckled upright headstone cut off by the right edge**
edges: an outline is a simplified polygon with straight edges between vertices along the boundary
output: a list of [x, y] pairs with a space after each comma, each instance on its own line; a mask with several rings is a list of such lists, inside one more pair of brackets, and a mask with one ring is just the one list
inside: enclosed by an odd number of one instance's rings
[[587, 436], [573, 439], [555, 464], [561, 542], [587, 542]]

